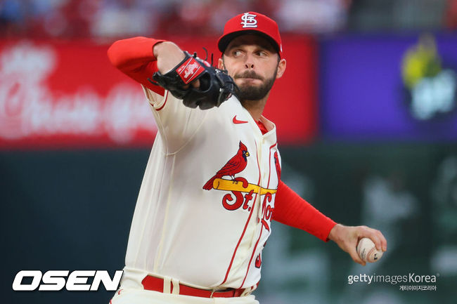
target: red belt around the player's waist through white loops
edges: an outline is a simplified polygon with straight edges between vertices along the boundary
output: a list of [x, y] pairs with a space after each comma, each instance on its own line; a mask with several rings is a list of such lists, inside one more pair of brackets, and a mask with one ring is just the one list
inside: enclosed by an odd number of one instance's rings
[[[146, 276], [143, 281], [144, 289], [150, 291], [160, 291], [163, 293], [163, 279], [159, 277]], [[171, 282], [170, 282], [171, 284]], [[198, 296], [200, 298], [231, 298], [241, 296], [245, 289], [225, 289], [224, 291], [211, 291], [207, 289], [199, 289], [183, 284], [179, 284], [179, 294], [184, 296]], [[173, 284], [170, 286], [170, 293], [173, 292]]]

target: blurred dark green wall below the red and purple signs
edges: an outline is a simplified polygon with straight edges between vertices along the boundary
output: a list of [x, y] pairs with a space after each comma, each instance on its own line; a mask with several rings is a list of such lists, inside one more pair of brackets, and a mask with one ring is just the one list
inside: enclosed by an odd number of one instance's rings
[[[273, 223], [261, 303], [453, 303], [457, 146], [284, 147], [283, 180], [339, 223], [380, 229], [388, 251], [362, 267], [335, 244]], [[122, 269], [148, 150], [1, 152], [5, 285], [19, 270]], [[6, 250], [10, 249], [10, 250]], [[437, 291], [349, 275], [437, 275]], [[8, 291], [9, 289], [9, 291]], [[111, 292], [14, 292], [8, 303], [107, 303]]]

